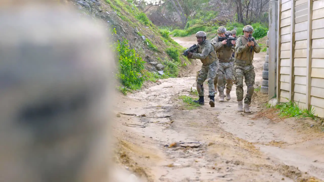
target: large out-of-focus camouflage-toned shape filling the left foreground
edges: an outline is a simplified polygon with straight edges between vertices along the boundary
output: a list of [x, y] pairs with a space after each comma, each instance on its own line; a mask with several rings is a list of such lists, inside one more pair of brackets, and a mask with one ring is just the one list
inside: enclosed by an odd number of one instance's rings
[[117, 181], [109, 30], [58, 1], [0, 2], [1, 181]]

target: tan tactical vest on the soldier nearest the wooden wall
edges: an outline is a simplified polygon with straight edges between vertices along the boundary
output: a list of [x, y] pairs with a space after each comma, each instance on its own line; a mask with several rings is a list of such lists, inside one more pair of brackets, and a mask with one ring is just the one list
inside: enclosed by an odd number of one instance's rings
[[[245, 45], [248, 43], [248, 40], [244, 37], [244, 35], [241, 35], [241, 40], [242, 40], [242, 45]], [[249, 47], [248, 50], [243, 51], [241, 53], [237, 53], [235, 52], [235, 65], [237, 66], [248, 66], [252, 64], [253, 61], [253, 55], [254, 55], [254, 49], [252, 49], [251, 52], [251, 48]]]

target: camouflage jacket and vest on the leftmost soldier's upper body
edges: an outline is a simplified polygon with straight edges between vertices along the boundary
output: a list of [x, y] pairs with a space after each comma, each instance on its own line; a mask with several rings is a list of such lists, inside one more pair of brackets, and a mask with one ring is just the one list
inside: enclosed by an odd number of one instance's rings
[[192, 59], [200, 59], [204, 66], [217, 61], [214, 46], [210, 40], [199, 45], [198, 50], [192, 54]]

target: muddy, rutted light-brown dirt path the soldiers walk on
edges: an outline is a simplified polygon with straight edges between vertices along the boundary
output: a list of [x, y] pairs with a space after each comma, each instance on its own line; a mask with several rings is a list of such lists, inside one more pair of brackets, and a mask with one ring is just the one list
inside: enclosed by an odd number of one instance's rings
[[[195, 43], [194, 37], [174, 40], [184, 47]], [[264, 55], [255, 54], [256, 84], [262, 80]], [[216, 102], [215, 108], [208, 104], [188, 108], [179, 96], [189, 95], [194, 82], [195, 75], [169, 78], [117, 98], [116, 112], [123, 113], [115, 126], [121, 141], [120, 162], [148, 181], [320, 181], [310, 176], [324, 180], [322, 133], [296, 131], [300, 125], [293, 119], [252, 119], [261, 109], [256, 101], [251, 106], [254, 114], [237, 113], [235, 85], [230, 101]], [[253, 98], [261, 97], [257, 93]], [[202, 145], [165, 146], [172, 142]]]

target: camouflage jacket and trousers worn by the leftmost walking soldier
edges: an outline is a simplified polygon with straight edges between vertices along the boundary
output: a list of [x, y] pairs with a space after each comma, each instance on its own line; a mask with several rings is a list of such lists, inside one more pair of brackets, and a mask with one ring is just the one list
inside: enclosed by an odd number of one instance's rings
[[199, 96], [204, 95], [203, 82], [207, 79], [209, 96], [215, 96], [214, 78], [217, 72], [217, 58], [214, 52], [214, 46], [210, 40], [205, 40], [196, 53], [192, 54], [192, 59], [200, 59], [203, 63], [197, 78], [197, 91]]

